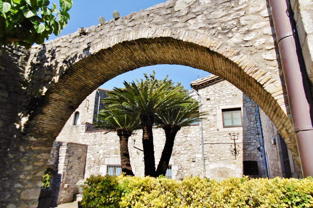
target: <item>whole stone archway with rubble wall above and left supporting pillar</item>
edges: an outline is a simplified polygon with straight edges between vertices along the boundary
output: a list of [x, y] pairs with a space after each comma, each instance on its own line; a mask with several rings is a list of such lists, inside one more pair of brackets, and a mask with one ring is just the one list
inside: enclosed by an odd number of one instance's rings
[[186, 65], [229, 81], [264, 110], [297, 157], [273, 31], [264, 0], [169, 0], [34, 46], [25, 76], [43, 96], [8, 158], [6, 203], [35, 207], [52, 143], [72, 112], [105, 81], [148, 65]]

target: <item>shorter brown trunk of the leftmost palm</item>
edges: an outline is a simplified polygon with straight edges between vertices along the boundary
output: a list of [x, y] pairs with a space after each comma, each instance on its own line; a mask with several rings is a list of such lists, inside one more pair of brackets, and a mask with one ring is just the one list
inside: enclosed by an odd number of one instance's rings
[[131, 136], [131, 133], [132, 131], [117, 130], [117, 135], [120, 137], [121, 167], [122, 172], [126, 175], [134, 175], [128, 152], [128, 138]]

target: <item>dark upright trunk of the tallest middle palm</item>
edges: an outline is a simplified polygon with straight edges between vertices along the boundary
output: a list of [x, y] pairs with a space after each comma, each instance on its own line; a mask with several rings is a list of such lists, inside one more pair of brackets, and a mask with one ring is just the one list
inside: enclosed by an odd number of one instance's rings
[[152, 114], [140, 115], [142, 125], [142, 147], [145, 159], [145, 176], [156, 177], [156, 165], [154, 158], [154, 145], [152, 126], [154, 116]]

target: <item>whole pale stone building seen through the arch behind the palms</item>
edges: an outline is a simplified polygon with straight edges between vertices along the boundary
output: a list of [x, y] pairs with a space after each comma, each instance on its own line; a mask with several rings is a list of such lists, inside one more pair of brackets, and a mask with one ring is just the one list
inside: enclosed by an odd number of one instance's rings
[[[193, 81], [191, 86], [201, 96], [202, 110], [208, 113], [203, 120], [204, 152], [200, 124], [182, 127], [175, 139], [167, 171], [168, 177], [177, 180], [194, 175], [218, 180], [243, 175], [254, 178], [291, 175], [300, 177], [299, 166], [294, 167], [290, 152], [287, 157], [290, 159], [289, 172], [292, 173], [286, 174], [288, 171], [282, 168], [276, 159], [280, 157], [280, 150], [273, 150], [269, 143], [277, 130], [273, 122], [261, 111], [262, 128], [266, 129], [264, 138], [267, 158], [273, 158], [273, 161], [266, 162], [269, 168], [265, 168], [256, 104], [247, 95], [215, 75]], [[92, 174], [114, 175], [121, 172], [119, 137], [110, 130], [92, 128], [92, 122], [96, 121], [96, 115], [103, 107], [99, 98], [106, 97], [106, 91], [110, 90], [98, 88], [87, 96], [66, 122], [54, 143], [49, 166], [59, 177], [58, 182], [53, 182], [53, 186], [57, 187], [54, 188], [54, 195], [58, 195], [54, 199], [55, 205], [71, 201], [77, 191], [75, 183], [79, 179]], [[199, 100], [195, 91], [189, 93]], [[157, 165], [165, 143], [163, 129], [154, 128], [153, 137]], [[236, 150], [239, 150], [236, 155], [234, 137]], [[142, 131], [136, 131], [128, 144], [131, 166], [136, 176], [144, 175], [141, 138]], [[279, 141], [283, 142], [282, 139]], [[56, 183], [58, 185], [55, 185]]]

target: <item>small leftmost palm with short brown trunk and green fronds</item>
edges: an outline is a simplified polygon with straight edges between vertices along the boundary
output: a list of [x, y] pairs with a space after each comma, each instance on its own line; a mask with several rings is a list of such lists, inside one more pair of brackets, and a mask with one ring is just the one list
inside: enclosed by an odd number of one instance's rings
[[112, 129], [117, 133], [120, 138], [122, 172], [126, 175], [134, 175], [128, 152], [128, 138], [134, 130], [141, 128], [139, 117], [106, 108], [100, 111], [95, 128]]

